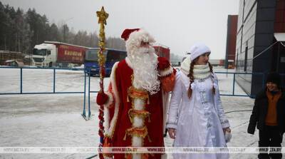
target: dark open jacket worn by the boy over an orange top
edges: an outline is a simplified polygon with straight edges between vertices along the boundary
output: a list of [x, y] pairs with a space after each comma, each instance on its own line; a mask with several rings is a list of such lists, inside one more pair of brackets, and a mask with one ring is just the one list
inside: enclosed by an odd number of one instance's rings
[[[277, 124], [281, 133], [285, 132], [285, 91], [281, 91], [281, 97], [277, 102]], [[262, 130], [265, 125], [265, 118], [268, 110], [268, 98], [266, 96], [266, 89], [257, 94], [254, 101], [254, 108], [252, 110], [252, 116], [250, 116], [249, 127], [247, 133], [254, 134], [255, 127]]]

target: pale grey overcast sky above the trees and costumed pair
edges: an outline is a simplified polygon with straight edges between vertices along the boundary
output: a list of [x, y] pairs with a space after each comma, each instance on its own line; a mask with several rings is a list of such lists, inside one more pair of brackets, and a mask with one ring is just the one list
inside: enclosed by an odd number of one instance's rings
[[170, 47], [181, 56], [195, 42], [203, 42], [210, 58], [224, 58], [227, 40], [227, 16], [238, 14], [239, 0], [1, 0], [15, 8], [36, 9], [50, 22], [68, 24], [74, 31], [98, 33], [95, 14], [101, 6], [109, 14], [106, 36], [120, 37], [124, 29], [144, 28], [157, 43]]

